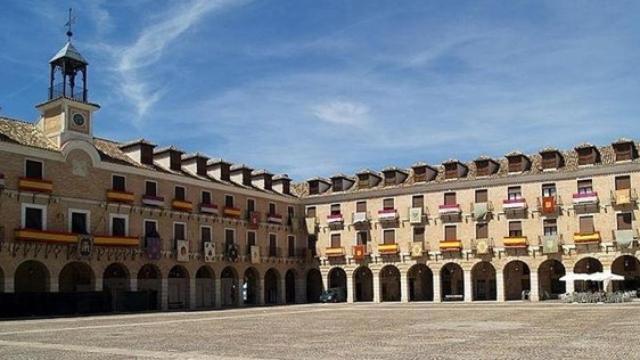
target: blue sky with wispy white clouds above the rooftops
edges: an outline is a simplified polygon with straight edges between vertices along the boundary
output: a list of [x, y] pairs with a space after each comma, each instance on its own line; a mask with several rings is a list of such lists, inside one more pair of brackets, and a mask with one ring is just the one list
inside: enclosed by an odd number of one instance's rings
[[640, 130], [637, 1], [5, 1], [0, 114], [37, 118], [69, 6], [97, 136], [295, 180]]

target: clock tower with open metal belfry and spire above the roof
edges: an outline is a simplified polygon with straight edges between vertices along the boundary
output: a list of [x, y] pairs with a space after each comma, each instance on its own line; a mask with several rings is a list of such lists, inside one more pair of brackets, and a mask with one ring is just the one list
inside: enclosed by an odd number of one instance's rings
[[100, 108], [89, 102], [89, 63], [71, 41], [74, 22], [75, 17], [69, 9], [67, 43], [49, 60], [48, 99], [36, 106], [40, 111], [38, 126], [59, 147], [75, 139], [93, 143], [92, 118]]

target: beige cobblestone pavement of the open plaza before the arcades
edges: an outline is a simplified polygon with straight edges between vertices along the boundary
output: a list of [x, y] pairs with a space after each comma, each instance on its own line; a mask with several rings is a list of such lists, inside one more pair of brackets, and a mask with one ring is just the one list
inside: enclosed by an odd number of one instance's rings
[[329, 304], [0, 322], [2, 359], [634, 359], [640, 304]]

